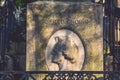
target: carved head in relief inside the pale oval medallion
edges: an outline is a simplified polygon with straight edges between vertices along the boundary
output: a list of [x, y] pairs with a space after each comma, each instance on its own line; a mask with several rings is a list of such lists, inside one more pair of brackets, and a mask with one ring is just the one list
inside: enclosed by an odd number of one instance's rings
[[59, 70], [68, 70], [71, 64], [76, 63], [78, 47], [67, 36], [55, 37], [55, 41], [51, 51], [52, 62], [58, 65]]

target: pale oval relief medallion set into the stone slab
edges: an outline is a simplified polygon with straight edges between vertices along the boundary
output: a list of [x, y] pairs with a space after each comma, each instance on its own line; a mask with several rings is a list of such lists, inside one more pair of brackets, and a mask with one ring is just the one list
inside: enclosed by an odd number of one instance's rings
[[84, 46], [71, 30], [55, 32], [46, 47], [46, 62], [50, 71], [81, 70], [84, 63]]

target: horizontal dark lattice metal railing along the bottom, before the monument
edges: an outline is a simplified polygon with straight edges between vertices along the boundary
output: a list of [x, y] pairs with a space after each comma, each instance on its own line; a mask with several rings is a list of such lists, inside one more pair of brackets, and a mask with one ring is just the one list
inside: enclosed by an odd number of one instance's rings
[[11, 71], [0, 80], [120, 80], [120, 72], [107, 71]]

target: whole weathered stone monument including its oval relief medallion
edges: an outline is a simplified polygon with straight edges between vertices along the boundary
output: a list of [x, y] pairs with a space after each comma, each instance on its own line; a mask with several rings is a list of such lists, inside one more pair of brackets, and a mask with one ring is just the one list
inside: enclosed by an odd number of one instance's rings
[[28, 71], [102, 71], [102, 6], [37, 1], [27, 6]]

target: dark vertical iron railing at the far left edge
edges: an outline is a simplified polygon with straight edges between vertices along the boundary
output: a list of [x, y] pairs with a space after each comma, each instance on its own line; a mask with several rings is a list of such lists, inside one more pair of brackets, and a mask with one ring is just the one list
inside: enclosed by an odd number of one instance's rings
[[6, 52], [9, 48], [9, 41], [14, 30], [14, 8], [10, 0], [5, 0], [4, 5], [0, 7], [0, 70], [5, 69]]

